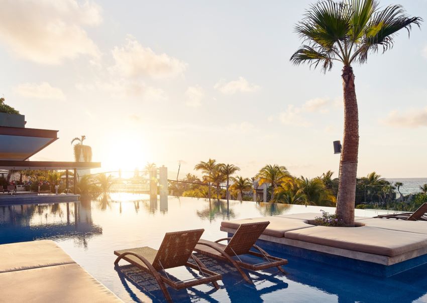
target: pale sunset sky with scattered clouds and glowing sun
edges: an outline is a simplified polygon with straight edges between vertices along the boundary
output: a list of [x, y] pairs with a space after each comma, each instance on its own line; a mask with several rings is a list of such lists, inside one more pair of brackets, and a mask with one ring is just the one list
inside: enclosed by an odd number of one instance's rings
[[[5, 0], [0, 94], [26, 127], [59, 130], [34, 161], [73, 161], [71, 139], [86, 135], [104, 171], [154, 162], [174, 174], [180, 161], [181, 176], [213, 158], [244, 177], [266, 164], [338, 172], [342, 66], [289, 62], [311, 3]], [[426, 0], [398, 3], [427, 20]], [[358, 176], [427, 176], [426, 26], [353, 66]]]

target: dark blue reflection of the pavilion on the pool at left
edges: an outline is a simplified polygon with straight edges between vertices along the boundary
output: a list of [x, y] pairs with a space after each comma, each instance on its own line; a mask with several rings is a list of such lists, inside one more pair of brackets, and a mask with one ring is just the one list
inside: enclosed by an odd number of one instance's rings
[[92, 223], [90, 201], [0, 206], [0, 243], [37, 239], [86, 239], [102, 234]]

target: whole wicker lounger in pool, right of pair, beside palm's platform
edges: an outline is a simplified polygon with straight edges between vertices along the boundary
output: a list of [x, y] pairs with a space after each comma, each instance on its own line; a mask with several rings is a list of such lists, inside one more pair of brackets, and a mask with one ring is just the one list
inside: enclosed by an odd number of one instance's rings
[[[232, 263], [234, 267], [236, 267], [236, 269], [240, 272], [242, 277], [249, 283], [252, 283], [252, 281], [242, 270], [242, 267], [254, 271], [270, 267], [277, 267], [281, 272], [286, 273], [281, 267], [281, 265], [288, 263], [286, 259], [273, 257], [255, 245], [255, 242], [258, 240], [259, 236], [262, 234], [268, 224], [270, 224], [268, 221], [241, 224], [236, 233], [231, 238], [223, 238], [215, 242], [200, 239], [194, 248], [194, 251], [215, 259]], [[227, 245], [219, 243], [225, 240], [229, 240]], [[255, 248], [259, 252], [252, 251], [250, 250], [251, 248]], [[239, 256], [245, 254], [262, 258], [265, 261], [257, 264], [251, 264], [242, 261]]]

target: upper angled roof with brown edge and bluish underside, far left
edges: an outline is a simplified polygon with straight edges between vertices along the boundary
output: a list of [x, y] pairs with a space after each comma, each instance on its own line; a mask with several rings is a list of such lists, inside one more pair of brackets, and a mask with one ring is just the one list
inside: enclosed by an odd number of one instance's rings
[[58, 130], [0, 126], [0, 161], [24, 161], [58, 139]]

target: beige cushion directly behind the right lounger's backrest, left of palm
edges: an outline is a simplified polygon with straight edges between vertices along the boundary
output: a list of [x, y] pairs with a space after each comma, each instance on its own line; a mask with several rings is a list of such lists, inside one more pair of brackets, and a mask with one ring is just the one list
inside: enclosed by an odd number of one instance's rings
[[221, 222], [221, 226], [238, 229], [240, 224], [243, 224], [243, 223], [254, 223], [254, 222], [264, 222], [264, 221], [269, 221], [270, 224], [268, 224], [263, 234], [273, 236], [273, 237], [278, 237], [278, 238], [282, 238], [284, 236], [284, 233], [287, 231], [313, 226], [301, 220], [279, 218], [279, 217], [260, 217], [260, 218], [223, 221]]

